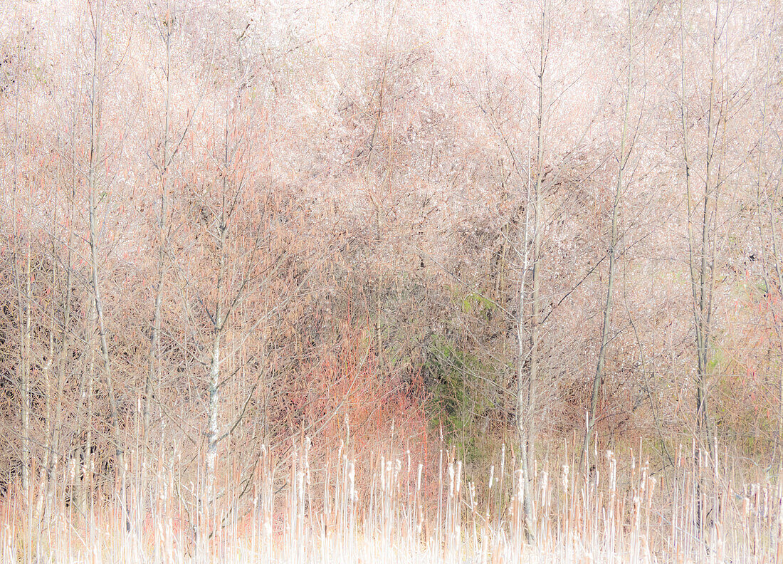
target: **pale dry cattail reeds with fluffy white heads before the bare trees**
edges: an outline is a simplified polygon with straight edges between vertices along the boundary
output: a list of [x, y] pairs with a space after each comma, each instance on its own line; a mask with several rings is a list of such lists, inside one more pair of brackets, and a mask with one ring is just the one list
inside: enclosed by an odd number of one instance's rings
[[406, 451], [359, 462], [341, 446], [316, 465], [305, 439], [262, 448], [250, 471], [229, 457], [214, 496], [186, 482], [171, 454], [144, 487], [144, 468], [128, 468], [124, 503], [117, 484], [70, 465], [48, 499], [42, 483], [30, 503], [19, 490], [5, 496], [0, 560], [783, 562], [777, 476], [743, 475], [726, 452], [692, 445], [653, 475], [640, 451], [594, 452], [581, 468], [573, 451], [539, 461], [530, 522], [505, 449], [477, 483], [444, 450], [425, 467]]

